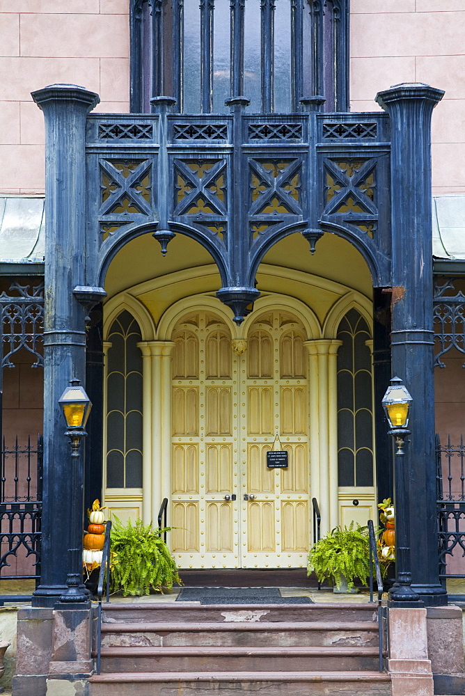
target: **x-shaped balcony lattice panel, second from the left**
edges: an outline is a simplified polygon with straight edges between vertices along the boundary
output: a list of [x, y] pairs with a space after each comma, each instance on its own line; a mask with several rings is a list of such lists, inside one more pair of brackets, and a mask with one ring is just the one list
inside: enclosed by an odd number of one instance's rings
[[[178, 200], [178, 205], [175, 206], [175, 215], [189, 214], [192, 208], [200, 208], [194, 213], [197, 216], [218, 215], [226, 216], [227, 212], [227, 196], [226, 196], [226, 161], [220, 160], [182, 160], [175, 159], [175, 189], [182, 190], [184, 195]], [[189, 168], [196, 165], [196, 169], [201, 176], [196, 175], [196, 172]], [[208, 168], [208, 165], [212, 166]], [[178, 175], [184, 181], [180, 185], [176, 183]], [[221, 187], [223, 200], [218, 196], [219, 185], [217, 180], [223, 176], [224, 185]], [[179, 198], [179, 196], [178, 196]], [[198, 205], [200, 204], [200, 205]], [[203, 212], [205, 209], [205, 212]]]

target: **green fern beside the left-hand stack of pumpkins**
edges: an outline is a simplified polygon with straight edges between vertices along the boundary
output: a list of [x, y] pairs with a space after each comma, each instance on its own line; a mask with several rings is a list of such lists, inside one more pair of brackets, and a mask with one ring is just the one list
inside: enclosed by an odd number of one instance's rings
[[166, 529], [153, 529], [140, 519], [127, 525], [114, 516], [111, 527], [111, 591], [123, 590], [123, 596], [169, 592], [175, 583], [181, 584], [175, 560], [162, 534]]

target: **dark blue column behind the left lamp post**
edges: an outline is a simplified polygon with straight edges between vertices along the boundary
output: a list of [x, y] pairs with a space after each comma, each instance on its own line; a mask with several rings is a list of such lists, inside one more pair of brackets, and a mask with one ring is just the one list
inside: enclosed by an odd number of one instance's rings
[[[70, 379], [83, 384], [86, 379], [86, 312], [73, 289], [85, 285], [85, 125], [99, 97], [75, 85], [52, 85], [32, 96], [44, 112], [47, 153], [42, 561], [33, 606], [50, 607], [66, 589], [68, 548], [82, 544], [82, 537], [70, 538], [70, 443], [58, 399]], [[84, 446], [81, 450], [74, 499], [82, 516]]]

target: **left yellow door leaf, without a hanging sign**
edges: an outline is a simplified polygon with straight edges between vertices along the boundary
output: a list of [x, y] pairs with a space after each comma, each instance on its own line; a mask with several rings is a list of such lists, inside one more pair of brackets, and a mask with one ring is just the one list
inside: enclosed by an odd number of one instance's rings
[[238, 413], [230, 333], [218, 317], [198, 312], [178, 323], [173, 340], [171, 548], [182, 568], [235, 568]]

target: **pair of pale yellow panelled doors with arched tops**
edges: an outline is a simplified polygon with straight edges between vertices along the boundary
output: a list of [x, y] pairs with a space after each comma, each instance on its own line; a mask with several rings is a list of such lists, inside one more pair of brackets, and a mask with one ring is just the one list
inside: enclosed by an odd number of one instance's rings
[[[199, 311], [175, 329], [171, 549], [184, 568], [303, 567], [309, 546], [304, 331], [278, 310], [231, 341]], [[269, 468], [267, 452], [287, 452]]]

